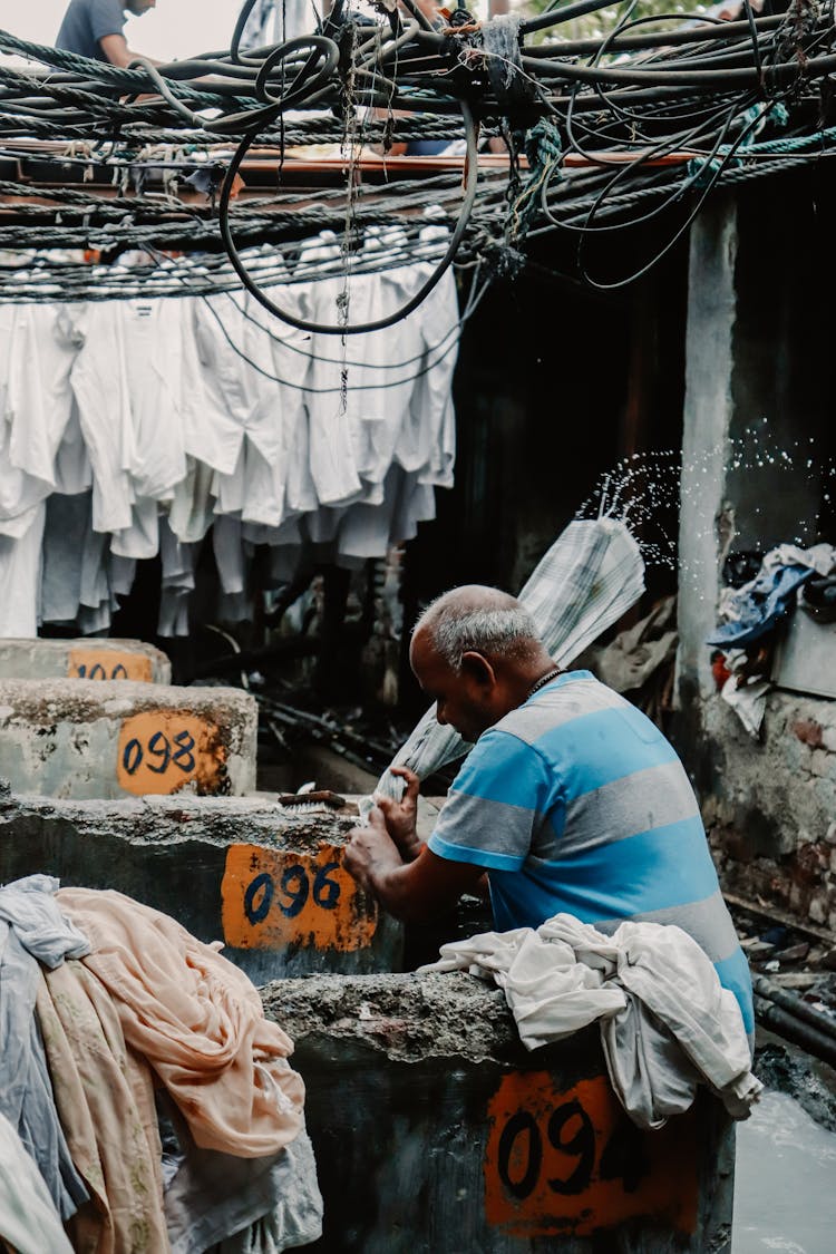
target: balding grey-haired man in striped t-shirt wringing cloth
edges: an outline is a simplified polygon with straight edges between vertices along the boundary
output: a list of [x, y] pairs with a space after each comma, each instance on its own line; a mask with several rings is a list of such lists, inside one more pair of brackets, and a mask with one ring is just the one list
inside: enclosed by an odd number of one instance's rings
[[396, 918], [426, 922], [486, 873], [498, 930], [565, 912], [612, 933], [677, 924], [753, 1031], [746, 957], [688, 776], [659, 729], [589, 671], [562, 671], [525, 607], [454, 588], [419, 618], [410, 663], [437, 719], [474, 747], [427, 844], [417, 776], [355, 828], [346, 868]]

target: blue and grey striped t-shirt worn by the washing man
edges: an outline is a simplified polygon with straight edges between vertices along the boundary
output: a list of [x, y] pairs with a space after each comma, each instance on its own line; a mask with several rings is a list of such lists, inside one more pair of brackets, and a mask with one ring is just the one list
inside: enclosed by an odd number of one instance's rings
[[748, 963], [682, 762], [589, 671], [560, 675], [480, 736], [429, 846], [488, 870], [503, 932], [562, 910], [602, 932], [624, 919], [676, 923], [753, 1031]]

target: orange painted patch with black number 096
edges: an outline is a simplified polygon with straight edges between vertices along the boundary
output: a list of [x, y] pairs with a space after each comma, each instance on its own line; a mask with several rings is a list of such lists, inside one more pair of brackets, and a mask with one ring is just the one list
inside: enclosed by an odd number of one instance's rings
[[342, 850], [288, 854], [231, 845], [221, 885], [223, 935], [238, 949], [362, 949], [377, 929], [377, 907], [342, 867]]

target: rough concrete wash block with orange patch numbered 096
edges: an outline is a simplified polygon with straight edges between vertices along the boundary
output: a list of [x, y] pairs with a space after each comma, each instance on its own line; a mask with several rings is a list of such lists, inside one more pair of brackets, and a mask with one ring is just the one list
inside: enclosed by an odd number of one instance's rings
[[118, 889], [201, 940], [223, 940], [257, 984], [399, 971], [401, 925], [342, 867], [355, 823], [353, 813], [293, 814], [263, 798], [81, 803], [6, 793], [0, 883], [46, 872], [64, 885]]

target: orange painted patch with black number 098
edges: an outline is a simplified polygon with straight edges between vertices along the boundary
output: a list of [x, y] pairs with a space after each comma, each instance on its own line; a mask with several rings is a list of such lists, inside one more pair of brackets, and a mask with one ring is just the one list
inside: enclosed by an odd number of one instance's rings
[[117, 779], [125, 793], [177, 793], [192, 782], [199, 794], [218, 793], [224, 764], [218, 729], [197, 715], [148, 710], [122, 725]]

